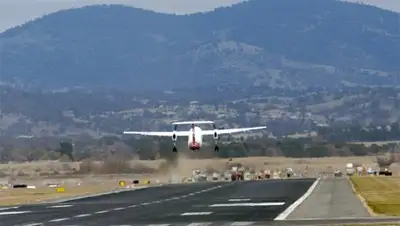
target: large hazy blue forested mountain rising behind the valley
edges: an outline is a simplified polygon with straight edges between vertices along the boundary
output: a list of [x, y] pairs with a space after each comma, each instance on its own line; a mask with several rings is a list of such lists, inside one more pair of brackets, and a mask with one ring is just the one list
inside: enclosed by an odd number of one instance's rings
[[0, 34], [1, 80], [45, 89], [393, 85], [399, 17], [334, 0], [250, 0], [191, 15], [89, 6]]

